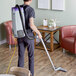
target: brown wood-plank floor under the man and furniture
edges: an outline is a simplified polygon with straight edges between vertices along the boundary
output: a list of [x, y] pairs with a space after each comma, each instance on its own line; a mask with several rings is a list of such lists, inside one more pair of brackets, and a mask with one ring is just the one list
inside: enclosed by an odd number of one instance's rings
[[[8, 45], [0, 45], [0, 73], [5, 73], [10, 61], [11, 55], [14, 51], [9, 51]], [[16, 50], [13, 58], [12, 66], [17, 66], [18, 51]], [[54, 52], [49, 52], [55, 66], [67, 69], [67, 72], [57, 71], [52, 69], [49, 59], [44, 50], [35, 49], [35, 76], [76, 76], [76, 55], [70, 53], [63, 54], [61, 48]], [[28, 56], [25, 52], [25, 68], [28, 68]]]

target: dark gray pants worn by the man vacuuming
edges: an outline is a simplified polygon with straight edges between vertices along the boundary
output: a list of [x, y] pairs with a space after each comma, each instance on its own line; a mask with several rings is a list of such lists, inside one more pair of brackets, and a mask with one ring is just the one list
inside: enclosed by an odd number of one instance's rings
[[34, 76], [34, 40], [29, 40], [27, 37], [18, 38], [18, 67], [24, 67], [24, 54], [27, 46], [29, 70]]

